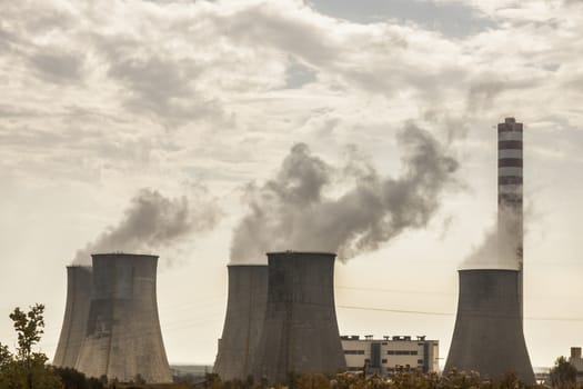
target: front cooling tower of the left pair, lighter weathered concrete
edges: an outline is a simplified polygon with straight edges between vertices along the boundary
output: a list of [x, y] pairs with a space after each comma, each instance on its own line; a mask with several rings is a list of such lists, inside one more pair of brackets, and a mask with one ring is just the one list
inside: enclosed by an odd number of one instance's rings
[[77, 370], [122, 382], [171, 382], [155, 296], [158, 257], [93, 255], [93, 297]]

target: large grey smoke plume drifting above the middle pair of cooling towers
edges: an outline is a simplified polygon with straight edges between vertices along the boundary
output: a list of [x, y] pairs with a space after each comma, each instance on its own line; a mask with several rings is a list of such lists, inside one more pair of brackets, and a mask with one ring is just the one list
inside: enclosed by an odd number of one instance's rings
[[[332, 251], [345, 260], [426, 226], [455, 180], [458, 162], [413, 124], [398, 133], [398, 142], [404, 150], [399, 178], [381, 177], [358, 158], [334, 169], [308, 146], [293, 146], [273, 179], [248, 187], [249, 212], [234, 230], [231, 261], [259, 262], [268, 251], [287, 249]], [[334, 181], [349, 178], [348, 190], [326, 196]]]

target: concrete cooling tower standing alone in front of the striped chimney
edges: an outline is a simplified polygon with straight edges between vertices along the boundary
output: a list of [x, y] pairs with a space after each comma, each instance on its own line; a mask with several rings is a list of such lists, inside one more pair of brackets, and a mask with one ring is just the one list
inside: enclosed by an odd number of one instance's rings
[[460, 270], [460, 297], [444, 371], [475, 370], [484, 377], [515, 372], [534, 383], [520, 312], [519, 270]]

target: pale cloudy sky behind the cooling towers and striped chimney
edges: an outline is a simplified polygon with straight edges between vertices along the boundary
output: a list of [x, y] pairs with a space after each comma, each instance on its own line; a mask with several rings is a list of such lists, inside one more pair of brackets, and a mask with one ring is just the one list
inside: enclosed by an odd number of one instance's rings
[[339, 326], [426, 335], [444, 358], [456, 269], [495, 220], [493, 128], [512, 116], [531, 359], [583, 346], [581, 1], [0, 0], [0, 341], [16, 342], [16, 306], [43, 302], [52, 357], [64, 267], [117, 245], [161, 256], [170, 361], [212, 363], [232, 241], [265, 188], [281, 194], [285, 161], [324, 167], [316, 194], [338, 206], [362, 169], [414, 181], [414, 129], [456, 167], [413, 187], [431, 212], [336, 265]]

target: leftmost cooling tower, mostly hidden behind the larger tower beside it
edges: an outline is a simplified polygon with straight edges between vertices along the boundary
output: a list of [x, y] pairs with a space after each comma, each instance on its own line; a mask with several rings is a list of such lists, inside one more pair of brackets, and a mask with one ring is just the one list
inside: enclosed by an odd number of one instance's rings
[[92, 282], [90, 267], [67, 267], [67, 303], [54, 366], [74, 368], [86, 335]]

